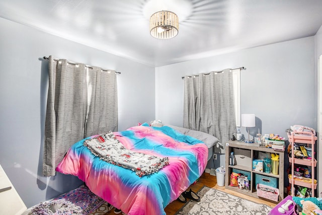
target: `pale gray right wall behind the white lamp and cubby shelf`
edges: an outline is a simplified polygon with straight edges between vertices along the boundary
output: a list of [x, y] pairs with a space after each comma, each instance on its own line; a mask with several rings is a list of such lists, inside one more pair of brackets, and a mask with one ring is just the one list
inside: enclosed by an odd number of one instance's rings
[[[314, 37], [250, 48], [155, 68], [155, 114], [183, 124], [182, 76], [245, 66], [241, 71], [241, 113], [255, 113], [251, 134], [278, 133], [294, 124], [316, 129]], [[241, 133], [247, 134], [244, 127]], [[219, 162], [220, 161], [220, 162]], [[224, 155], [208, 168], [224, 165]]]

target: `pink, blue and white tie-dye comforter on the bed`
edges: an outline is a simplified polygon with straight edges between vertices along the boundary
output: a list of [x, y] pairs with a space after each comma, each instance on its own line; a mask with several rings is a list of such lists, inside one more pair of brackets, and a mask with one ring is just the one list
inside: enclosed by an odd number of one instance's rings
[[[198, 179], [206, 168], [208, 148], [201, 140], [168, 127], [135, 126], [114, 132], [128, 150], [168, 157], [159, 172], [139, 177], [134, 171], [101, 160], [76, 142], [56, 171], [77, 176], [93, 193], [128, 215], [166, 214], [164, 208]], [[93, 138], [88, 137], [88, 138]], [[86, 138], [86, 139], [88, 139]]]

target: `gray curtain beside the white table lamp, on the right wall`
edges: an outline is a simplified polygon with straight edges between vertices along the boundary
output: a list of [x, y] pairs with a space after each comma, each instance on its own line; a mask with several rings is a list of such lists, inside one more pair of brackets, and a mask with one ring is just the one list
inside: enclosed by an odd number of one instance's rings
[[225, 153], [225, 142], [236, 132], [233, 82], [230, 69], [222, 73], [186, 76], [184, 81], [184, 127], [217, 137]]

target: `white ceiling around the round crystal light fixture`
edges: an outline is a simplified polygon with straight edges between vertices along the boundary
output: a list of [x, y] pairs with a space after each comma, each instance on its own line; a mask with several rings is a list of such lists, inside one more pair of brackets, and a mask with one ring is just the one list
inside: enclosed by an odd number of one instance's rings
[[[175, 38], [150, 36], [155, 10], [178, 14]], [[322, 1], [1, 0], [0, 17], [154, 67], [315, 35]]]

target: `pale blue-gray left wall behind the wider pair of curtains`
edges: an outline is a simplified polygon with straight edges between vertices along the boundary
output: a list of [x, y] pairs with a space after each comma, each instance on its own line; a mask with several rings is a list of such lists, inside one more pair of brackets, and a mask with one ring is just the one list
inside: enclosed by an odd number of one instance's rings
[[0, 164], [30, 207], [82, 183], [60, 173], [40, 176], [48, 62], [39, 58], [53, 55], [120, 71], [119, 130], [154, 119], [154, 67], [2, 18], [0, 29]]

